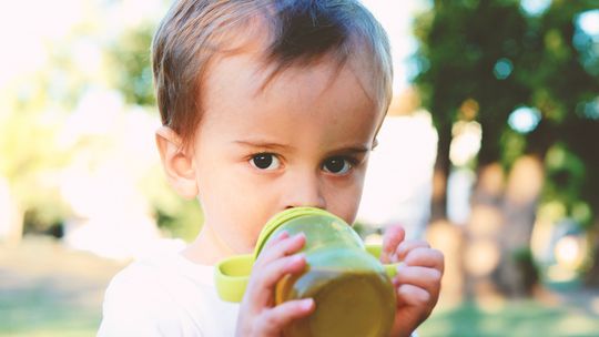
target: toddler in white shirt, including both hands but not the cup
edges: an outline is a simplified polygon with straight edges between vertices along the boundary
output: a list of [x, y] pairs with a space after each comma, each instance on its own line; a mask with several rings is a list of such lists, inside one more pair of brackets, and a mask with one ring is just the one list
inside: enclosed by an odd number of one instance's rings
[[[184, 251], [136, 262], [111, 282], [100, 336], [280, 336], [314, 302], [273, 306], [273, 287], [306, 266], [303, 235], [282, 235], [256, 261], [241, 305], [217, 298], [213, 265], [254, 248], [288, 207], [353, 223], [368, 153], [390, 100], [387, 38], [356, 0], [180, 0], [153, 41], [166, 177], [204, 211]], [[443, 255], [385, 235], [404, 262], [393, 336], [435, 306]]]

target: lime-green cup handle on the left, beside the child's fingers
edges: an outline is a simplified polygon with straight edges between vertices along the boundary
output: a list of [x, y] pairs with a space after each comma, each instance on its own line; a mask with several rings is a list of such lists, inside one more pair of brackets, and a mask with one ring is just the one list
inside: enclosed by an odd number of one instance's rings
[[214, 268], [214, 283], [221, 299], [240, 303], [252, 273], [254, 255], [238, 255], [221, 261]]

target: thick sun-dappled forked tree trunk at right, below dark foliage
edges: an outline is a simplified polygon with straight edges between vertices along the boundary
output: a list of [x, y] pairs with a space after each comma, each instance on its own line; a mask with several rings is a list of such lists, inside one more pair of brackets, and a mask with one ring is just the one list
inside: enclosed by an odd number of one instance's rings
[[530, 237], [542, 181], [537, 156], [518, 159], [505, 185], [498, 163], [480, 167], [466, 234], [468, 295], [531, 295], [538, 279]]

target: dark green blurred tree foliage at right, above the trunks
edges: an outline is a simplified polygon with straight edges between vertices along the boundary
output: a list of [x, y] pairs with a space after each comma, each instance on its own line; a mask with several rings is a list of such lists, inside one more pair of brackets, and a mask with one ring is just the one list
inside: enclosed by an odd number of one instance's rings
[[[586, 224], [599, 210], [599, 42], [580, 31], [577, 19], [597, 4], [554, 0], [539, 17], [528, 17], [517, 0], [435, 1], [415, 24], [422, 44], [415, 84], [440, 140], [463, 118], [463, 102], [474, 100], [483, 127], [478, 163], [509, 167], [522, 154], [549, 156], [544, 200], [565, 202], [568, 215]], [[518, 106], [541, 113], [528, 134], [508, 126]], [[556, 152], [562, 153], [559, 165]]]

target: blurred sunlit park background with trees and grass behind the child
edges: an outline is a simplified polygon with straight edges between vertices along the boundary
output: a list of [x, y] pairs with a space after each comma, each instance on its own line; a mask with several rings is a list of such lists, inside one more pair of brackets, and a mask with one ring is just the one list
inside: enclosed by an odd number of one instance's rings
[[[447, 270], [419, 335], [599, 336], [599, 2], [364, 2], [406, 55], [389, 115], [436, 131], [417, 207]], [[94, 335], [110, 278], [200, 229], [153, 145], [169, 4], [0, 4], [0, 336]]]

